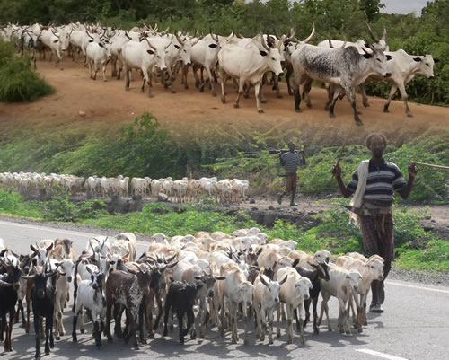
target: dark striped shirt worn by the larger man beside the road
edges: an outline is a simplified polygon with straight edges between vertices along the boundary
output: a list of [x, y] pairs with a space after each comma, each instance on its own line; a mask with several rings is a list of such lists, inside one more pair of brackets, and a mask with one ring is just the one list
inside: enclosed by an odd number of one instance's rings
[[[353, 193], [357, 189], [358, 175], [357, 170], [352, 174], [347, 189]], [[404, 176], [398, 165], [387, 162], [377, 167], [372, 160], [369, 161], [368, 177], [366, 179], [366, 189], [364, 199], [392, 203], [393, 191], [401, 190], [406, 185]]]

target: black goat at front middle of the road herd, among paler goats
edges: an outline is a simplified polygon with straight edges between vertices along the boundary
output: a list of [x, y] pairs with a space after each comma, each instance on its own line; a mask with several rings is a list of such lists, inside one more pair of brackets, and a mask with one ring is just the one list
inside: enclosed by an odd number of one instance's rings
[[[180, 328], [180, 344], [184, 344], [184, 337], [189, 333], [189, 329], [195, 321], [193, 314], [193, 305], [197, 296], [198, 288], [202, 285], [189, 285], [180, 281], [173, 281], [165, 300], [165, 317], [163, 320], [163, 336], [168, 334], [167, 323], [170, 311], [176, 312], [178, 317], [178, 326]], [[187, 314], [187, 328], [183, 329], [184, 314]]]

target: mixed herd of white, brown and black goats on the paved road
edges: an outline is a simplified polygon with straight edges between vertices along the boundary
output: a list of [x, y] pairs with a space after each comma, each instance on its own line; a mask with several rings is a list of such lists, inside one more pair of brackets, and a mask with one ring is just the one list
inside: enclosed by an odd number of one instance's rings
[[232, 342], [237, 343], [237, 322], [242, 318], [243, 340], [247, 344], [252, 318], [260, 341], [264, 341], [268, 332], [272, 344], [275, 312], [277, 337], [281, 337], [280, 323], [286, 321], [287, 341], [294, 342], [296, 320], [304, 344], [311, 303], [313, 333], [319, 334], [323, 312], [331, 330], [327, 305], [331, 296], [339, 301], [339, 331], [351, 333], [348, 320], [351, 309], [354, 327], [363, 331], [367, 325], [366, 296], [370, 285], [372, 281], [383, 280], [382, 258], [366, 259], [361, 254], [349, 253], [334, 263], [327, 250], [308, 254], [295, 250], [296, 241], [267, 240], [268, 235], [258, 228], [172, 238], [156, 233], [147, 251], [137, 258], [133, 233], [92, 238], [79, 257], [75, 256], [73, 241], [69, 239], [42, 240], [31, 244], [31, 253], [27, 254], [9, 250], [8, 244], [0, 239], [0, 340], [4, 341], [5, 351], [12, 351], [13, 324], [22, 313], [22, 327], [29, 333], [32, 310], [36, 358], [40, 357], [40, 338], [44, 336], [45, 353], [49, 354], [54, 338], [59, 340], [66, 334], [62, 318], [69, 299], [73, 301], [72, 340], [77, 341], [78, 317], [80, 331], [85, 331], [85, 311], [92, 320], [92, 337], [97, 347], [101, 346], [102, 334], [109, 342], [113, 340], [111, 320], [115, 335], [127, 342], [134, 336], [134, 346], [138, 348], [138, 343], [146, 344], [147, 336], [154, 338], [161, 322], [166, 336], [169, 327], [173, 329], [175, 314], [180, 343], [184, 343], [189, 331], [191, 338], [197, 336], [197, 329], [199, 336], [204, 337], [207, 330], [215, 327], [223, 337], [230, 329]]

